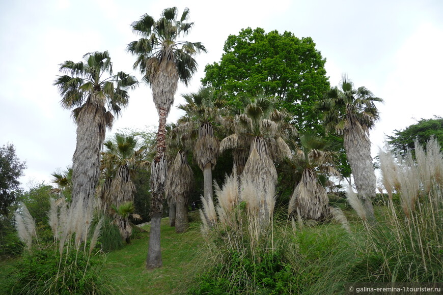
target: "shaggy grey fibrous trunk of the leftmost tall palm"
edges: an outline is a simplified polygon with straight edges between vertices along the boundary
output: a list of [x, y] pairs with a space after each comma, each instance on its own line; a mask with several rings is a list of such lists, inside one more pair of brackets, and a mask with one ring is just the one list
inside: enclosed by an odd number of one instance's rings
[[77, 116], [77, 143], [72, 157], [72, 200], [87, 206], [100, 176], [100, 151], [106, 133], [103, 104], [86, 103]]

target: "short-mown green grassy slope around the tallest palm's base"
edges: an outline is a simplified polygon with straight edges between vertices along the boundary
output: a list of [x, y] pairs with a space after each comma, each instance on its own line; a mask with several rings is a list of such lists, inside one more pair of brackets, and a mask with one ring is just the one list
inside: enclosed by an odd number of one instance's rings
[[[149, 225], [144, 227], [149, 231]], [[114, 283], [124, 294], [182, 294], [186, 280], [190, 279], [192, 258], [202, 242], [198, 223], [191, 223], [186, 233], [175, 233], [169, 219], [161, 220], [161, 255], [163, 267], [145, 270], [149, 233], [140, 233], [140, 238], [130, 245], [107, 255], [105, 272], [115, 278]]]

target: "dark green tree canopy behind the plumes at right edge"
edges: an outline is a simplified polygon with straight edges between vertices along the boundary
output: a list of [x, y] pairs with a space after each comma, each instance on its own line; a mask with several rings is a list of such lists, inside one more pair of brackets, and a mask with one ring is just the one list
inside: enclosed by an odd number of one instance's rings
[[395, 134], [387, 136], [387, 143], [400, 153], [414, 150], [414, 140], [422, 146], [434, 136], [440, 146], [443, 146], [443, 117], [434, 116], [433, 119], [421, 119], [403, 130], [394, 130]]

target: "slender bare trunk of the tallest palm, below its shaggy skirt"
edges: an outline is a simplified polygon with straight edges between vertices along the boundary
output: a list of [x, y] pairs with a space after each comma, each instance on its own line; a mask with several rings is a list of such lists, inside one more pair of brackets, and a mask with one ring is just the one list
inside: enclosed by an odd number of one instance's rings
[[160, 220], [163, 211], [163, 191], [166, 180], [166, 118], [168, 111], [164, 108], [159, 110], [157, 132], [157, 154], [151, 166], [151, 232], [149, 234], [148, 256], [146, 269], [159, 268], [161, 261], [160, 248]]

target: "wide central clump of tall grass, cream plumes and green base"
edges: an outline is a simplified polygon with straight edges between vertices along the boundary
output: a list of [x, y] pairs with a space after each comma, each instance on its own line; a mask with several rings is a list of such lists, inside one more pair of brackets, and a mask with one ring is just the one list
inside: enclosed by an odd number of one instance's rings
[[[204, 202], [202, 232], [192, 294], [334, 294], [343, 290], [354, 261], [347, 232], [338, 225], [291, 226], [274, 216], [273, 185], [262, 190], [237, 176], [216, 186], [216, 204]], [[259, 186], [262, 187], [262, 186]], [[350, 230], [343, 213], [337, 219]], [[206, 224], [206, 216], [214, 220]], [[301, 220], [300, 220], [301, 221]], [[301, 221], [302, 223], [302, 221]]]

